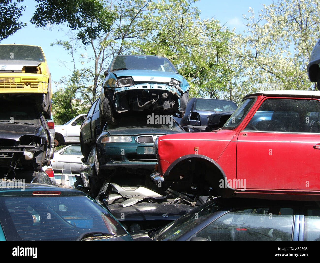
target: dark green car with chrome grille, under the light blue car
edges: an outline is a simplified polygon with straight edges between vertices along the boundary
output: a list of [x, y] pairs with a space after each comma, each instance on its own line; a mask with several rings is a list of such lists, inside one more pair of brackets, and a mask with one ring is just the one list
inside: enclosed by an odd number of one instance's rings
[[[157, 117], [162, 117], [159, 123]], [[97, 139], [99, 169], [136, 168], [139, 173], [143, 168], [153, 170], [157, 162], [154, 141], [159, 136], [181, 132], [182, 127], [171, 116], [125, 116], [117, 125], [106, 125]]]

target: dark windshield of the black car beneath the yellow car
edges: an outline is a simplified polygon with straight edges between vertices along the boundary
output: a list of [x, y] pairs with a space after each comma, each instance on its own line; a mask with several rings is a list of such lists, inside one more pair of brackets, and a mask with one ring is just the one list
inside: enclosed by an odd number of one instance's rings
[[5, 111], [0, 112], [0, 122], [40, 124], [36, 109], [28, 104], [4, 102]]

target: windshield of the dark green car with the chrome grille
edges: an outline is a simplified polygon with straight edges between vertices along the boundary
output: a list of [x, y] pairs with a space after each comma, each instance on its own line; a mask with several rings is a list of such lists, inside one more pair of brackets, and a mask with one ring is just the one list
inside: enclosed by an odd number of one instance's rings
[[[161, 124], [162, 123], [162, 124]], [[125, 129], [162, 129], [183, 132], [179, 124], [172, 116], [168, 115], [148, 115], [146, 117], [123, 117], [116, 125], [107, 125], [107, 131], [118, 131]]]

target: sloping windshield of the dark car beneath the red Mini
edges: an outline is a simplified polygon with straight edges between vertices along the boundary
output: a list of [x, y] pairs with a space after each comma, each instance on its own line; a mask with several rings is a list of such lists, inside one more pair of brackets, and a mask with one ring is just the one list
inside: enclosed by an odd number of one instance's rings
[[[214, 201], [207, 203], [205, 206], [195, 208], [188, 214], [173, 221], [172, 224], [164, 226], [160, 231], [154, 234], [153, 238], [156, 240], [176, 240], [199, 224], [199, 220], [204, 221], [219, 209], [220, 206]], [[195, 214], [197, 215], [196, 217]]]

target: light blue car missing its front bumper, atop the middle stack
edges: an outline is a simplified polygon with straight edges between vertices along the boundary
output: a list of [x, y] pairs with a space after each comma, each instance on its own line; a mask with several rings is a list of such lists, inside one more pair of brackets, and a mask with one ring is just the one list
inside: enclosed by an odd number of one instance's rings
[[189, 88], [188, 81], [165, 57], [118, 55], [105, 72], [100, 108], [107, 123], [114, 123], [116, 115], [126, 111], [182, 116]]

